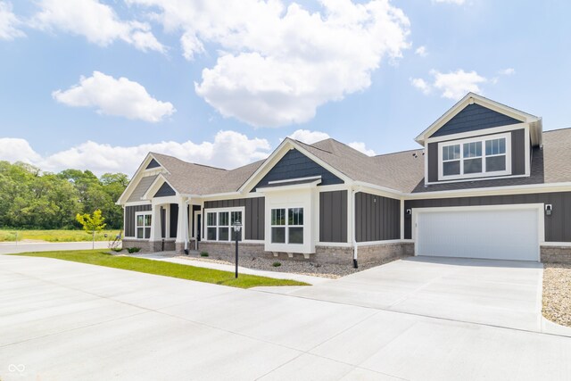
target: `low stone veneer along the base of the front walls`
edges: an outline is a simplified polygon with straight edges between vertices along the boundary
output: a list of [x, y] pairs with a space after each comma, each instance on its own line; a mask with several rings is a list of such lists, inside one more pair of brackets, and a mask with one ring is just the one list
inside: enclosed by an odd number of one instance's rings
[[[211, 258], [233, 261], [236, 255], [234, 243], [222, 242], [201, 242], [198, 247], [200, 252], [209, 253]], [[294, 253], [290, 257], [288, 253], [272, 253], [264, 251], [264, 244], [240, 243], [240, 258], [252, 259], [256, 257], [276, 259], [280, 261], [311, 261], [315, 263], [334, 263], [342, 265], [352, 265], [353, 248], [339, 246], [316, 246], [315, 253], [310, 254], [310, 259], [306, 260], [302, 254]], [[399, 255], [413, 255], [414, 244], [412, 243], [390, 243], [373, 244], [359, 247], [359, 263], [381, 263], [386, 259]]]

